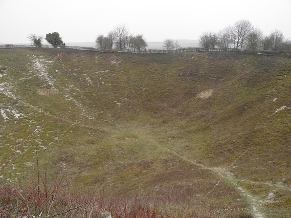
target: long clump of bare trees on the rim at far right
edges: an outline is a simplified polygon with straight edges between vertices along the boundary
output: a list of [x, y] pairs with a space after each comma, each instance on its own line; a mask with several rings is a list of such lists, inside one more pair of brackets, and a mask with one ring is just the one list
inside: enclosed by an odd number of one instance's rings
[[279, 30], [264, 36], [262, 30], [255, 28], [251, 22], [240, 20], [227, 26], [218, 33], [204, 32], [199, 44], [206, 49], [218, 47], [222, 50], [291, 50], [291, 41], [285, 39]]

